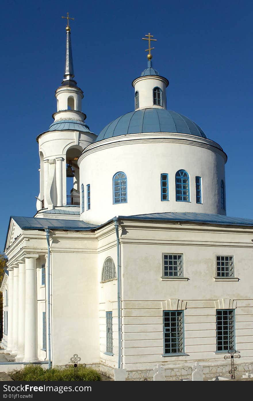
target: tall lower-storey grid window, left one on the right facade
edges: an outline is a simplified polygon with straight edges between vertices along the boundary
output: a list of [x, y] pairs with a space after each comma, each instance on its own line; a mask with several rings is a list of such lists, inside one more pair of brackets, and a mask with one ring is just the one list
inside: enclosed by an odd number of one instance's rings
[[164, 355], [184, 354], [184, 311], [164, 310]]

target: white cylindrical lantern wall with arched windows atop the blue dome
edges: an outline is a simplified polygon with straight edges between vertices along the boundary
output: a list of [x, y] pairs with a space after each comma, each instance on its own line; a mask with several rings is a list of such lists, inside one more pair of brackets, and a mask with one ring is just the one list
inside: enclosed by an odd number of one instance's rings
[[[146, 107], [164, 108], [166, 109], [166, 80], [162, 77], [154, 77], [147, 75], [134, 80], [134, 90], [139, 92], [139, 109]], [[153, 89], [159, 87], [162, 90], [162, 105], [154, 105]]]

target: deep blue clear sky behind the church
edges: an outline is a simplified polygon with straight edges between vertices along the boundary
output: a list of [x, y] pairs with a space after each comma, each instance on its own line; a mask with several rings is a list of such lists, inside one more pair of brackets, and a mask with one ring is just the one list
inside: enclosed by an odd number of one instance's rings
[[228, 155], [227, 215], [253, 219], [253, 3], [128, 0], [41, 3], [9, 0], [2, 8], [0, 250], [10, 215], [34, 216], [39, 192], [36, 136], [56, 111], [65, 59], [65, 21], [83, 112], [93, 132], [134, 109], [132, 81], [153, 67], [170, 85], [167, 107], [194, 120]]

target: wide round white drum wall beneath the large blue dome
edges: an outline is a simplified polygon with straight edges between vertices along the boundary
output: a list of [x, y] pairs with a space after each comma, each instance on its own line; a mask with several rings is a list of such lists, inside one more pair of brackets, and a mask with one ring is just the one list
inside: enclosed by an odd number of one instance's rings
[[[217, 147], [216, 147], [217, 146]], [[226, 156], [210, 140], [184, 134], [138, 134], [95, 142], [79, 158], [80, 184], [85, 188], [81, 219], [104, 223], [117, 215], [195, 212], [225, 215], [221, 180]], [[175, 174], [190, 176], [190, 202], [176, 202]], [[128, 180], [128, 202], [113, 205], [112, 180], [122, 171]], [[161, 201], [160, 177], [169, 175], [169, 201]], [[202, 204], [196, 203], [195, 176], [202, 177]], [[87, 211], [86, 185], [91, 208]]]

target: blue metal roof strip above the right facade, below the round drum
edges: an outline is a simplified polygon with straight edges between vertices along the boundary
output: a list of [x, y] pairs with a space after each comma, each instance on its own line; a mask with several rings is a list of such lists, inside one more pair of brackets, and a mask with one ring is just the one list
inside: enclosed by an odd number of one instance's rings
[[253, 226], [253, 220], [242, 217], [229, 217], [213, 215], [210, 213], [150, 213], [146, 215], [119, 216], [119, 219], [135, 220], [167, 220], [167, 221], [194, 221], [196, 223], [213, 223], [222, 225], [245, 225]]

